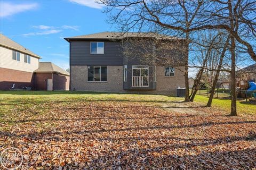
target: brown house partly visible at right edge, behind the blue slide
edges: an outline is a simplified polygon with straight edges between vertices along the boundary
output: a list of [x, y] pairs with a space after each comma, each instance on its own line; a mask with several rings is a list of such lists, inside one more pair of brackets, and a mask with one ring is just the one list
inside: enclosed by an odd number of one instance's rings
[[249, 82], [256, 82], [256, 64], [249, 65], [236, 72], [236, 86], [241, 90], [249, 88]]

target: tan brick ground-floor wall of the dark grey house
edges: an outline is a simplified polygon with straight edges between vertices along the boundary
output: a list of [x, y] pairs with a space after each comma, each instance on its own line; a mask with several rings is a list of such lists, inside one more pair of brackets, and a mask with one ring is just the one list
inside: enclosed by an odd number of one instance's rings
[[107, 66], [107, 82], [88, 82], [87, 66], [71, 66], [70, 90], [127, 92], [135, 94], [176, 95], [178, 87], [185, 87], [184, 67], [175, 69], [174, 77], [164, 76], [164, 67], [156, 69], [156, 90], [124, 90], [123, 66]]

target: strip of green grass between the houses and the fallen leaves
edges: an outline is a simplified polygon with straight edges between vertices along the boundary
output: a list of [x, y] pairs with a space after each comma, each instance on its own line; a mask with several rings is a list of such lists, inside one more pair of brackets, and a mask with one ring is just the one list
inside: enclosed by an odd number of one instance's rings
[[[0, 91], [0, 118], [10, 113], [12, 109], [23, 111], [37, 105], [37, 113], [43, 113], [40, 109], [41, 103], [61, 102], [69, 104], [73, 101], [135, 101], [161, 105], [170, 101], [182, 101], [184, 98], [164, 95], [138, 95], [138, 94], [115, 94], [105, 92], [77, 92], [77, 91]], [[196, 102], [206, 104], [208, 98], [197, 95]], [[213, 99], [213, 107], [230, 111], [230, 100]], [[49, 108], [50, 109], [50, 108]], [[256, 114], [255, 104], [244, 104], [237, 102], [238, 113]]]

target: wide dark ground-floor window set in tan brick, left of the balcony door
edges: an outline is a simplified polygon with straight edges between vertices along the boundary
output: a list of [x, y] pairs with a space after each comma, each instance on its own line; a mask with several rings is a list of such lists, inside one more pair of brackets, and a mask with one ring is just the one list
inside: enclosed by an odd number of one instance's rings
[[88, 81], [107, 81], [107, 66], [88, 66]]

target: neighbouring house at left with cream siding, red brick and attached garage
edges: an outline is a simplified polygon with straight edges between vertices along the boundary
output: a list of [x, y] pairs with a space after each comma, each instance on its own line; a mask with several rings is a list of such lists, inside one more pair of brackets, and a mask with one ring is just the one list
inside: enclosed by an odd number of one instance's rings
[[69, 73], [52, 63], [39, 62], [40, 59], [0, 34], [0, 90], [46, 90], [47, 86], [48, 90], [68, 90]]

